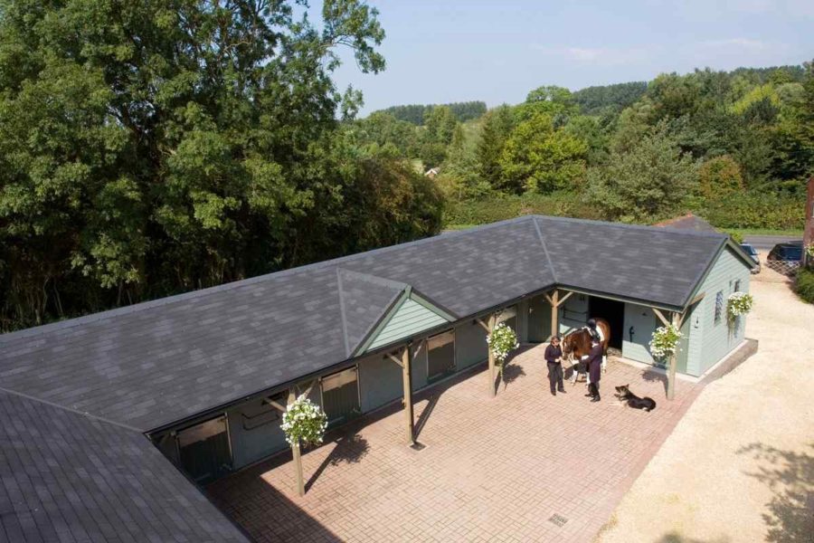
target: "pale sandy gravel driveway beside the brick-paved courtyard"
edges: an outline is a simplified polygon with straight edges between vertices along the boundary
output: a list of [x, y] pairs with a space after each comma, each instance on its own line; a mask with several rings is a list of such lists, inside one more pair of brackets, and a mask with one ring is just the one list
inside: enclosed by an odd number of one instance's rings
[[814, 306], [771, 274], [752, 294], [758, 353], [705, 387], [599, 541], [814, 542]]

